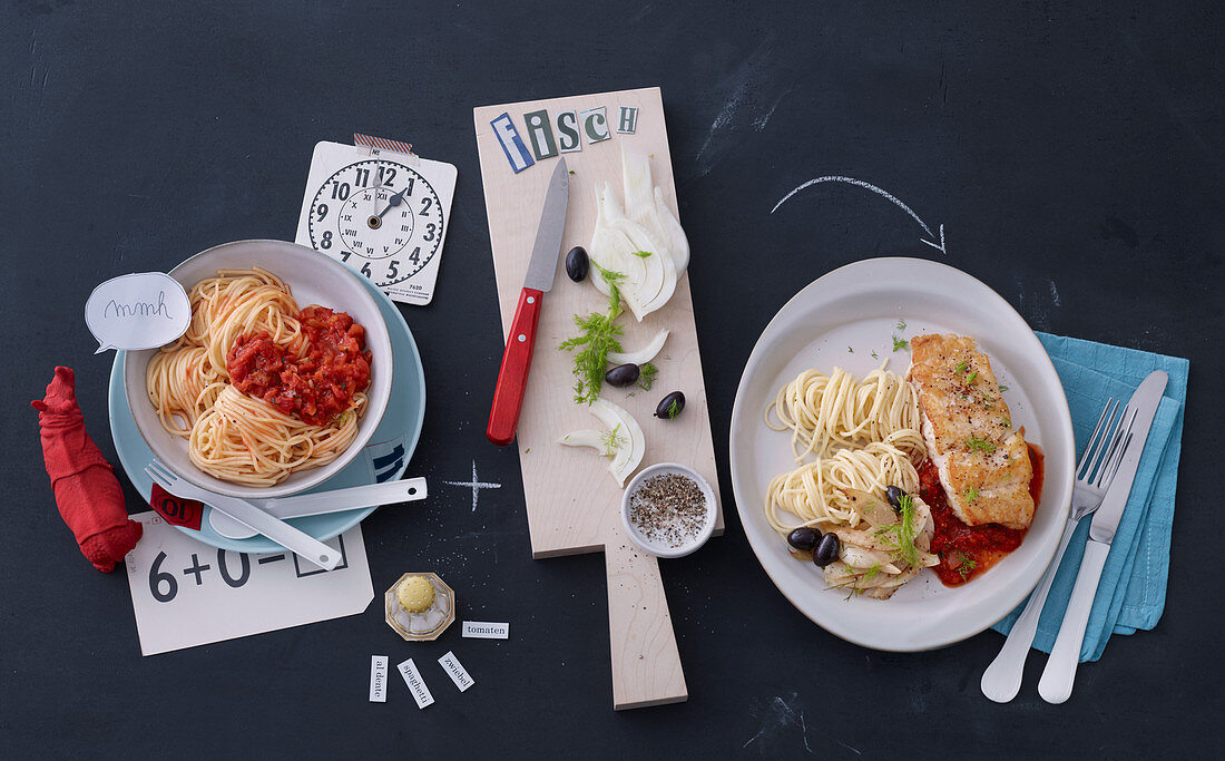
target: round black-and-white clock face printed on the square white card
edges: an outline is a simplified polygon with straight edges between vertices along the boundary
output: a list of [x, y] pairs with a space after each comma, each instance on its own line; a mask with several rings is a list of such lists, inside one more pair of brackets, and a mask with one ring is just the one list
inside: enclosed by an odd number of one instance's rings
[[442, 243], [442, 203], [404, 164], [355, 162], [320, 186], [307, 219], [311, 246], [348, 262], [376, 286], [421, 271]]

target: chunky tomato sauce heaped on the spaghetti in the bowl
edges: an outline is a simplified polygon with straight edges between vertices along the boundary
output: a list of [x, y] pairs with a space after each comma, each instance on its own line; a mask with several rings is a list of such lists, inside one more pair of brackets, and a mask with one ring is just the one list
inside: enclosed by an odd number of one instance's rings
[[[365, 328], [343, 311], [307, 306], [298, 314], [300, 350], [273, 343], [267, 331], [239, 336], [225, 357], [234, 387], [310, 425], [327, 425], [370, 385]], [[298, 354], [301, 357], [298, 357]]]

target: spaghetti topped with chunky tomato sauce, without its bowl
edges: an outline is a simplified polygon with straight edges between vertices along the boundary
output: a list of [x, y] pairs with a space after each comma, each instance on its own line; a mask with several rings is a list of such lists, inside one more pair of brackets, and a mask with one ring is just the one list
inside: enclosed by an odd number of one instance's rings
[[192, 464], [249, 487], [325, 466], [358, 436], [371, 376], [365, 328], [301, 309], [279, 277], [218, 270], [187, 294], [191, 325], [145, 369], [162, 426]]

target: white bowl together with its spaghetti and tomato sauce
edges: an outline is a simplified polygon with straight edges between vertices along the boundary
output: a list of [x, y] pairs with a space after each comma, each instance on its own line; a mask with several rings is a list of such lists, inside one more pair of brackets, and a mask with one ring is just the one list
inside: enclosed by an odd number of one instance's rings
[[127, 406], [157, 458], [246, 499], [295, 494], [344, 468], [379, 426], [392, 381], [387, 325], [359, 276], [279, 240], [214, 246], [169, 274], [187, 290], [191, 326], [124, 362]]

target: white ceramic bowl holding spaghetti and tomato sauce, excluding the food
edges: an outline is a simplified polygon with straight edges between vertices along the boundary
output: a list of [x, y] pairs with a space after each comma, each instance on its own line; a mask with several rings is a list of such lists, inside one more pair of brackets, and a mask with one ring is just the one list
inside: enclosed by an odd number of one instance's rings
[[320, 304], [344, 311], [365, 327], [366, 348], [370, 349], [370, 387], [366, 412], [358, 423], [358, 436], [339, 457], [326, 466], [293, 473], [274, 487], [244, 487], [205, 473], [187, 455], [187, 442], [162, 428], [157, 409], [148, 401], [145, 390], [145, 369], [158, 349], [127, 352], [124, 358], [124, 391], [132, 419], [146, 444], [167, 467], [187, 482], [202, 489], [246, 499], [287, 496], [318, 485], [338, 473], [352, 461], [374, 435], [387, 401], [391, 396], [392, 352], [387, 324], [374, 297], [366, 290], [359, 276], [341, 262], [314, 249], [283, 240], [239, 240], [207, 249], [186, 260], [169, 274], [183, 283], [186, 290], [218, 270], [246, 270], [262, 267], [293, 290], [299, 306]]

